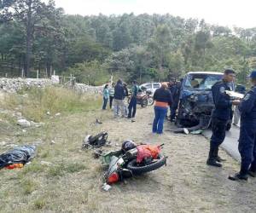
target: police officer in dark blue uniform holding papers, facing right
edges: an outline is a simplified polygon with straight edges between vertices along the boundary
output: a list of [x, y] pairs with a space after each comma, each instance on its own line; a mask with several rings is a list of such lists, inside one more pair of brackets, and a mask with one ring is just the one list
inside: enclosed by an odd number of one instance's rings
[[225, 130], [227, 124], [232, 117], [232, 104], [238, 105], [240, 101], [231, 101], [230, 95], [225, 93], [225, 90], [231, 90], [230, 86], [235, 80], [235, 72], [232, 69], [224, 71], [222, 81], [215, 83], [212, 86], [212, 97], [215, 108], [212, 112], [212, 137], [210, 142], [210, 152], [207, 159], [207, 164], [221, 167], [221, 161], [224, 159], [218, 156], [218, 147], [224, 141]]

